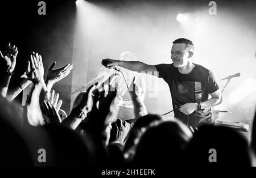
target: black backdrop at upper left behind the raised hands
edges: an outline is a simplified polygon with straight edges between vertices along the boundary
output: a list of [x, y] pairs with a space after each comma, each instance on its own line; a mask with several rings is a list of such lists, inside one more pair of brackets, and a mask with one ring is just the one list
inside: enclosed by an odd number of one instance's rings
[[[38, 2], [40, 1], [1, 1], [0, 49], [10, 42], [18, 46], [19, 50], [10, 87], [19, 81], [33, 51], [42, 55], [45, 78], [53, 61], [57, 62], [57, 68], [72, 63], [75, 2], [44, 1], [46, 15], [38, 14]], [[72, 73], [53, 86], [65, 103], [62, 108], [67, 112], [70, 103], [71, 75]], [[21, 102], [22, 94], [16, 100]]]

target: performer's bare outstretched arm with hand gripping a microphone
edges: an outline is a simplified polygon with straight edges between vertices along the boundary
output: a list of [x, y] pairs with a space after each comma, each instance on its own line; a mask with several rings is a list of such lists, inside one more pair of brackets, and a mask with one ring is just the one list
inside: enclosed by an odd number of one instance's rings
[[107, 58], [102, 60], [101, 63], [106, 67], [120, 66], [131, 71], [136, 71], [138, 73], [151, 72], [151, 73], [148, 73], [151, 75], [154, 75], [154, 73], [157, 71], [155, 65], [148, 65], [140, 61], [119, 61], [119, 60], [112, 60]]

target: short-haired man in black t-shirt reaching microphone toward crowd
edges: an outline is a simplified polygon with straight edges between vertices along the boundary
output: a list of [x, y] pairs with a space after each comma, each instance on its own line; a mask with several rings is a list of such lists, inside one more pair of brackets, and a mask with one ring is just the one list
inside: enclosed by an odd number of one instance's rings
[[[221, 104], [221, 90], [212, 73], [192, 62], [194, 45], [188, 39], [177, 39], [171, 49], [171, 64], [147, 65], [139, 61], [104, 59], [110, 66], [121, 66], [131, 71], [154, 72], [168, 84], [172, 96], [175, 118], [197, 128], [200, 124], [211, 124], [211, 107]], [[211, 98], [209, 99], [209, 95]]]

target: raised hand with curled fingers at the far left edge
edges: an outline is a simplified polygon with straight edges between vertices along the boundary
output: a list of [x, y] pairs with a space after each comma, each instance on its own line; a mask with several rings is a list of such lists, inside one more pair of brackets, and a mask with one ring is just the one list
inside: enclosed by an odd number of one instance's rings
[[15, 45], [11, 45], [10, 43], [8, 46], [6, 46], [6, 49], [3, 50], [3, 53], [0, 51], [1, 58], [3, 58], [6, 61], [6, 71], [8, 73], [12, 73], [14, 71], [17, 54], [18, 48], [15, 47]]

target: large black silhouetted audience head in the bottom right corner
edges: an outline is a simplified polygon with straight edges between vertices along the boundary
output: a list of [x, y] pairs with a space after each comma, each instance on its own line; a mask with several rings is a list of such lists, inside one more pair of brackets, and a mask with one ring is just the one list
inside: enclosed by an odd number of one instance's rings
[[246, 139], [225, 126], [201, 126], [188, 144], [185, 158], [189, 165], [250, 166]]

